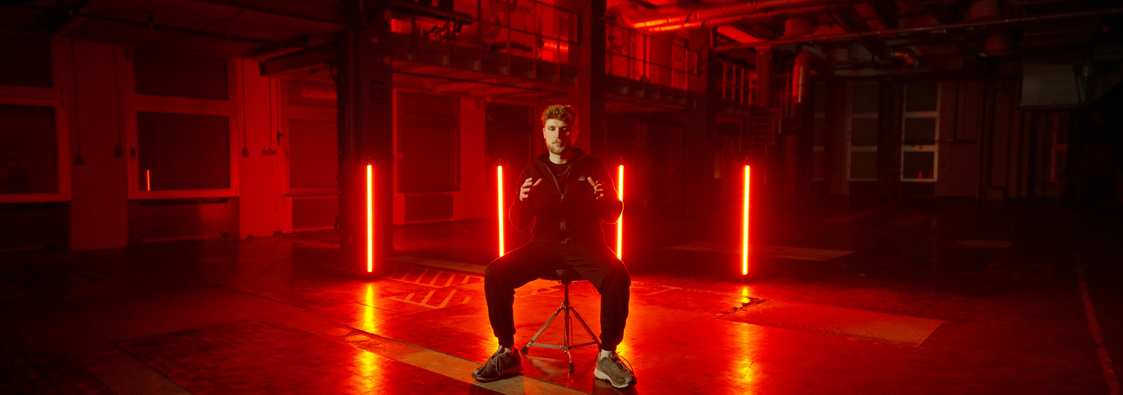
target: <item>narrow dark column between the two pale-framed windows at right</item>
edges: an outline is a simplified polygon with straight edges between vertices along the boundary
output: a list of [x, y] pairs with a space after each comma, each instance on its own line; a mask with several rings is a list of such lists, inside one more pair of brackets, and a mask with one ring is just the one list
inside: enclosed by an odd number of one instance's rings
[[901, 195], [902, 117], [904, 84], [883, 79], [877, 109], [877, 185], [880, 196]]

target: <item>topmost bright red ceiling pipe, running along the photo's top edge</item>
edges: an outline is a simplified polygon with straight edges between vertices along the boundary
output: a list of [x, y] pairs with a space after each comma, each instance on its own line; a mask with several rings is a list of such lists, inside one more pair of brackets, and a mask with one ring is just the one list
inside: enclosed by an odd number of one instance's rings
[[646, 17], [640, 17], [643, 20], [632, 24], [632, 27], [655, 28], [664, 25], [697, 24], [690, 26], [696, 27], [702, 26], [707, 20], [720, 18], [723, 19], [814, 6], [842, 6], [861, 1], [866, 0], [755, 0], [742, 3], [719, 4], [681, 10], [670, 10], [669, 8], [666, 8], [656, 10]]

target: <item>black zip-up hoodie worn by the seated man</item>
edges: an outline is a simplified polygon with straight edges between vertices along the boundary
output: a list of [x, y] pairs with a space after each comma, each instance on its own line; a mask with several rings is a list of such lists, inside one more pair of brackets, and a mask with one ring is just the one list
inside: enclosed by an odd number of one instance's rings
[[[549, 153], [542, 153], [522, 169], [519, 187], [527, 178], [542, 180], [531, 187], [529, 198], [520, 201], [515, 193], [511, 203], [511, 223], [515, 230], [535, 224], [532, 239], [549, 242], [604, 242], [601, 221], [615, 223], [623, 211], [623, 202], [617, 196], [611, 173], [595, 156], [585, 155], [581, 148], [573, 148], [573, 167], [566, 183], [558, 183], [557, 176], [546, 164]], [[588, 178], [603, 182], [604, 198], [596, 200]]]

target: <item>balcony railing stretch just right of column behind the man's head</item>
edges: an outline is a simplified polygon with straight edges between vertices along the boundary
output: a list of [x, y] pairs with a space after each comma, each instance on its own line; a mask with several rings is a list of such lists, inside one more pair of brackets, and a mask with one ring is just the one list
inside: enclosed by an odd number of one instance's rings
[[605, 73], [681, 90], [697, 74], [697, 50], [612, 22], [605, 28]]

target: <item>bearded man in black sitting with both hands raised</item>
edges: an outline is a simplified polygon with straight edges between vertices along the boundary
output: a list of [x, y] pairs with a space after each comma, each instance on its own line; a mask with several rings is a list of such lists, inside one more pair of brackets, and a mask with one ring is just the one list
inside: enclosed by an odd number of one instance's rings
[[620, 218], [623, 202], [617, 199], [604, 163], [573, 148], [576, 123], [573, 107], [557, 104], [542, 111], [542, 137], [549, 153], [522, 169], [519, 199], [510, 209], [515, 229], [535, 223], [533, 237], [487, 265], [487, 318], [499, 350], [472, 371], [477, 380], [491, 382], [522, 370], [514, 348], [514, 288], [568, 265], [601, 293], [602, 350], [595, 376], [617, 388], [636, 384], [636, 376], [615, 353], [628, 320], [631, 277], [624, 263], [604, 244], [601, 231], [601, 221], [614, 223]]

